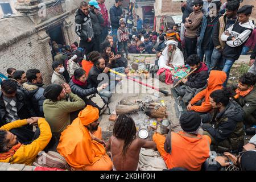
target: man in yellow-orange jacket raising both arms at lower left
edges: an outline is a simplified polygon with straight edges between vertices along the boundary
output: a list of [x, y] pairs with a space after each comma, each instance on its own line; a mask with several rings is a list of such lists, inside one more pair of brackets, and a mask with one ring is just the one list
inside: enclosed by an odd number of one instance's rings
[[[30, 144], [21, 144], [10, 130], [28, 124], [37, 124], [40, 129], [40, 136]], [[47, 147], [51, 137], [51, 129], [44, 118], [34, 117], [8, 123], [0, 128], [0, 162], [30, 166], [39, 152]]]

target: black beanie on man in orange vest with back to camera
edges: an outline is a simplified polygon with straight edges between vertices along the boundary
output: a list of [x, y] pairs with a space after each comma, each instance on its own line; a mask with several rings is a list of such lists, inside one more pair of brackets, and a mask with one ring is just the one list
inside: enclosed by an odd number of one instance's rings
[[180, 126], [185, 132], [195, 132], [201, 125], [201, 117], [193, 111], [187, 111], [180, 117]]

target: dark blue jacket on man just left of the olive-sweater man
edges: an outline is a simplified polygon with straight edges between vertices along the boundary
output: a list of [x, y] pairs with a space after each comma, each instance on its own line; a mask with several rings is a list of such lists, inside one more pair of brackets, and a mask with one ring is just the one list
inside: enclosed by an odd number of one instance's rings
[[33, 106], [37, 117], [44, 117], [43, 103], [46, 98], [44, 97], [43, 84], [32, 84], [26, 82], [20, 86], [28, 101]]

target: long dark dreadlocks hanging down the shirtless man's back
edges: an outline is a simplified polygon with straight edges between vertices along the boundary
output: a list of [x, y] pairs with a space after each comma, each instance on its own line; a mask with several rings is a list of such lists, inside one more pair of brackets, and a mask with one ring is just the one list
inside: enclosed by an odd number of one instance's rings
[[117, 119], [115, 120], [113, 133], [116, 138], [125, 141], [123, 143], [122, 151], [122, 155], [125, 157], [128, 147], [136, 138], [137, 130], [133, 118], [126, 114], [118, 115]]

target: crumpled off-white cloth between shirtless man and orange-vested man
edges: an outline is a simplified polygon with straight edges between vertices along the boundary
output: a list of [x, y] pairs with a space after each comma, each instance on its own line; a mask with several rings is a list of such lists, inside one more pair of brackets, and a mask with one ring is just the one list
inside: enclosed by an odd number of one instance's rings
[[140, 171], [162, 171], [163, 169], [167, 169], [166, 163], [158, 151], [141, 148], [139, 153]]

